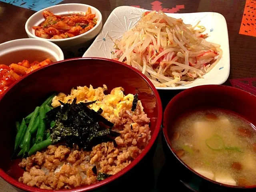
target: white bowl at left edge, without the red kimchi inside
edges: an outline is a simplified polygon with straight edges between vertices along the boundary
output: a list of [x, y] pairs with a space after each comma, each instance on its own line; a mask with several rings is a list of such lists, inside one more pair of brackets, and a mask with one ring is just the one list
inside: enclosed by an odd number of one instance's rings
[[0, 44], [0, 64], [41, 62], [47, 58], [56, 62], [64, 60], [64, 55], [56, 44], [42, 39], [16, 39]]

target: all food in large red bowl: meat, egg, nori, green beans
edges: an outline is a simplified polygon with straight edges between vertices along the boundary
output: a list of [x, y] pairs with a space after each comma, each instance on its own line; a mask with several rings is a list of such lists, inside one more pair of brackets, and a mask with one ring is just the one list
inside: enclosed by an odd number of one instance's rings
[[122, 87], [104, 91], [106, 85], [52, 94], [15, 123], [13, 158], [23, 156], [19, 166], [26, 169], [20, 182], [54, 190], [93, 184], [144, 150], [151, 139], [150, 119], [138, 95], [125, 95]]

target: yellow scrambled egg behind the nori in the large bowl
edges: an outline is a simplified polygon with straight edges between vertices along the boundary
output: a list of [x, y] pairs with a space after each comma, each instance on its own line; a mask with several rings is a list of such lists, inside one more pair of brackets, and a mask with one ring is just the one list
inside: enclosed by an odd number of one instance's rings
[[[71, 94], [66, 95], [60, 93], [55, 96], [52, 100], [52, 106], [57, 107], [60, 105], [59, 100], [64, 103], [72, 103], [74, 98], [77, 98], [77, 103], [79, 102], [90, 102], [96, 101], [96, 103], [91, 104], [89, 107], [94, 111], [98, 111], [100, 108], [103, 110], [102, 116], [107, 120], [112, 120], [114, 116], [119, 116], [119, 113], [123, 108], [129, 111], [130, 114], [132, 108], [132, 101], [134, 99], [133, 94], [124, 95], [124, 89], [122, 87], [114, 88], [110, 94], [105, 95], [104, 91], [107, 90], [107, 86], [98, 87], [94, 89], [92, 85], [90, 87], [77, 87], [77, 89], [72, 88]], [[138, 100], [138, 105], [140, 105], [140, 110], [143, 110], [140, 100]]]

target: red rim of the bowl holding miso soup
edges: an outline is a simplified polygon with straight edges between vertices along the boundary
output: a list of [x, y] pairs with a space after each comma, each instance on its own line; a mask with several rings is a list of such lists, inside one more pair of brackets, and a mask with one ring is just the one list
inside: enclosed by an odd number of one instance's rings
[[223, 88], [225, 89], [228, 89], [228, 90], [225, 90], [226, 93], [230, 94], [230, 95], [235, 95], [233, 91], [236, 92], [237, 95], [239, 95], [239, 93], [244, 93], [244, 94], [248, 94], [250, 96], [253, 96], [255, 99], [256, 99], [256, 96], [251, 94], [250, 92], [246, 92], [244, 90], [241, 90], [241, 89], [238, 89], [238, 88], [235, 88], [235, 87], [231, 87], [231, 86], [226, 86], [226, 85], [202, 85], [202, 86], [196, 86], [196, 87], [192, 87], [192, 88], [189, 88], [189, 89], [186, 89], [182, 92], [180, 92], [179, 94], [177, 94], [176, 96], [174, 96], [172, 98], [172, 100], [170, 100], [170, 102], [167, 104], [165, 110], [164, 110], [164, 118], [163, 118], [163, 128], [162, 128], [162, 131], [163, 131], [163, 135], [164, 135], [164, 140], [166, 141], [166, 144], [168, 146], [168, 148], [170, 149], [170, 151], [172, 152], [172, 154], [174, 154], [174, 156], [188, 169], [190, 170], [191, 172], [193, 172], [194, 174], [198, 175], [199, 177], [201, 178], [204, 178], [205, 180], [208, 180], [209, 182], [212, 182], [214, 184], [217, 184], [219, 186], [226, 186], [228, 188], [240, 188], [240, 189], [250, 189], [250, 188], [256, 188], [256, 185], [252, 185], [252, 186], [233, 186], [233, 185], [227, 185], [227, 184], [222, 184], [222, 183], [219, 183], [219, 182], [216, 182], [214, 180], [210, 180], [208, 178], [206, 178], [205, 176], [195, 172], [190, 166], [188, 166], [186, 163], [184, 163], [177, 155], [176, 153], [174, 152], [174, 149], [172, 148], [172, 145], [170, 144], [170, 140], [169, 140], [169, 137], [168, 137], [168, 132], [167, 132], [167, 122], [169, 121], [169, 114], [167, 113], [168, 110], [170, 110], [170, 108], [172, 108], [172, 105], [179, 99], [179, 98], [182, 98], [184, 96], [188, 97], [189, 98], [189, 95], [190, 93], [192, 92], [196, 92], [198, 90], [202, 90], [202, 89], [206, 89], [206, 90], [209, 90], [209, 89], [212, 89], [212, 88], [215, 88], [218, 89], [218, 91], [222, 91]]

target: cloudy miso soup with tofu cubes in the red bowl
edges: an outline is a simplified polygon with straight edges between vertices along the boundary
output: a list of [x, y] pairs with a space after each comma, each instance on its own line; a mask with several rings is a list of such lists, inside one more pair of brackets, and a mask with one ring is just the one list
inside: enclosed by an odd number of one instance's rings
[[222, 110], [183, 114], [168, 133], [176, 155], [202, 176], [222, 184], [256, 184], [255, 127]]

